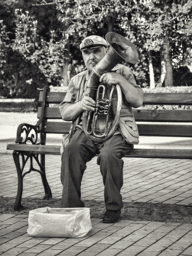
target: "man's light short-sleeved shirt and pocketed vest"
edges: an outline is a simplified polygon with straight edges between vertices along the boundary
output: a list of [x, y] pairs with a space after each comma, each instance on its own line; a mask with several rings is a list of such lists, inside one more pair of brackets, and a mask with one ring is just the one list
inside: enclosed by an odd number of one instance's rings
[[[136, 84], [135, 78], [133, 76], [133, 73], [131, 69], [127, 66], [117, 64], [113, 69], [112, 72], [116, 72], [117, 74], [121, 74], [124, 76], [134, 87], [136, 87], [142, 98], [143, 98], [143, 90], [140, 86]], [[83, 98], [84, 95], [84, 89], [87, 83], [87, 80], [89, 78], [89, 71], [83, 71], [76, 76], [74, 76], [69, 83], [69, 89], [67, 91], [67, 94], [63, 100], [62, 103], [59, 105], [59, 109], [61, 112], [61, 115], [63, 115], [64, 109], [69, 105], [70, 103], [76, 103], [79, 100]], [[109, 94], [109, 88], [107, 88], [108, 94]], [[116, 95], [116, 91], [114, 91], [113, 95], [114, 98]], [[116, 105], [117, 100], [112, 99], [112, 110], [115, 113], [116, 112]], [[71, 128], [70, 128], [70, 137], [73, 135], [75, 131], [75, 127], [78, 125], [80, 121], [81, 115], [78, 116], [77, 119], [72, 120]], [[120, 112], [120, 121], [118, 129], [120, 133], [122, 134], [125, 141], [127, 141], [129, 144], [138, 144], [139, 143], [139, 134], [137, 129], [137, 124], [135, 122], [135, 118], [133, 115], [133, 109], [132, 106], [126, 101], [124, 94], [122, 93], [122, 109]]]

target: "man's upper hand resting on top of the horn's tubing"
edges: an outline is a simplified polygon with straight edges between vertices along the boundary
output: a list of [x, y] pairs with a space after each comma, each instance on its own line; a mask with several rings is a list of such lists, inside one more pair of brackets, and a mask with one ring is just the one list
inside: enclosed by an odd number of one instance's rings
[[120, 74], [116, 74], [113, 72], [107, 72], [101, 75], [100, 82], [104, 82], [105, 84], [121, 84], [122, 82], [126, 82], [127, 80]]

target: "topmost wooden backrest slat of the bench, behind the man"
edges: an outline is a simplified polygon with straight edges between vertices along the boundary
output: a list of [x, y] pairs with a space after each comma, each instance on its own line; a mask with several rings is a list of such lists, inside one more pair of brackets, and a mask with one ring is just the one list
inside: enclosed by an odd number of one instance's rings
[[[48, 103], [59, 104], [63, 101], [66, 92], [47, 92]], [[43, 92], [40, 92], [39, 102], [42, 103]], [[189, 93], [144, 93], [144, 105], [192, 105]]]

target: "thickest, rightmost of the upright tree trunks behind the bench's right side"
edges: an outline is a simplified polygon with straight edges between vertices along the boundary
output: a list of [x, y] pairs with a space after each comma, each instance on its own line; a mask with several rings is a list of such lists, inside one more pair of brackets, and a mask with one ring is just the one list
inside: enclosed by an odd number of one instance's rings
[[165, 68], [166, 68], [165, 87], [173, 86], [173, 67], [172, 67], [172, 61], [171, 61], [169, 49], [170, 49], [169, 40], [168, 40], [168, 37], [165, 37], [165, 40], [163, 43], [163, 56], [164, 56]]

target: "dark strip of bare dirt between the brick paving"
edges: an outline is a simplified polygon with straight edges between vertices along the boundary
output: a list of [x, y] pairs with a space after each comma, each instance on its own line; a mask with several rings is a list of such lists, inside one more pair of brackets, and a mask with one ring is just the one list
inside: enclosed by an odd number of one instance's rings
[[[0, 213], [27, 214], [30, 210], [41, 207], [61, 207], [61, 199], [42, 200], [39, 198], [23, 198], [22, 205], [25, 209], [13, 211], [15, 198], [0, 198]], [[85, 207], [90, 208], [91, 218], [101, 219], [105, 212], [104, 201], [83, 200]], [[192, 224], [192, 207], [171, 204], [153, 204], [142, 202], [125, 203], [121, 213], [122, 220], [134, 221], [161, 221], [161, 222], [181, 222]]]

